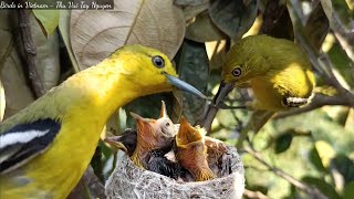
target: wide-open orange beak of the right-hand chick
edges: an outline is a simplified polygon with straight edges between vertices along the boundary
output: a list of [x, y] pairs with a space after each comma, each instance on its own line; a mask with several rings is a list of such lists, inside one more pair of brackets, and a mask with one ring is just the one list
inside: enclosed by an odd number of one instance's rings
[[176, 136], [177, 146], [183, 147], [201, 139], [202, 135], [196, 128], [190, 126], [185, 117], [181, 117], [179, 122], [179, 129]]

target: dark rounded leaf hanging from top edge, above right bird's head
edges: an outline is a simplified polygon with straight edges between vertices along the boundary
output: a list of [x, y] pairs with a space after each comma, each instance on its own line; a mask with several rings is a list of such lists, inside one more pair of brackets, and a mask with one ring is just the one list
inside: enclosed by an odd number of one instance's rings
[[240, 39], [257, 17], [258, 0], [214, 0], [209, 8], [211, 21], [231, 39]]

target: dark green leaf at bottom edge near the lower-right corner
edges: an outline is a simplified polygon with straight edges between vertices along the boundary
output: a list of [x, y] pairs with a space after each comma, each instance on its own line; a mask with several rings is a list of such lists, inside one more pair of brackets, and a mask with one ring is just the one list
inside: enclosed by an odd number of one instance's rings
[[303, 182], [316, 187], [323, 195], [331, 199], [339, 199], [341, 198], [340, 195], [335, 191], [335, 188], [324, 181], [324, 179], [311, 177], [311, 176], [305, 176], [302, 178]]

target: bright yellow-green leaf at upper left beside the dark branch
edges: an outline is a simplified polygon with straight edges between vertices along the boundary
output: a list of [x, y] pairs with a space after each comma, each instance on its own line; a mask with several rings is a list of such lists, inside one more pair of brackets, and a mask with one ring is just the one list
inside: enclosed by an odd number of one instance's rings
[[32, 9], [32, 12], [44, 30], [44, 35], [51, 35], [59, 24], [59, 10]]

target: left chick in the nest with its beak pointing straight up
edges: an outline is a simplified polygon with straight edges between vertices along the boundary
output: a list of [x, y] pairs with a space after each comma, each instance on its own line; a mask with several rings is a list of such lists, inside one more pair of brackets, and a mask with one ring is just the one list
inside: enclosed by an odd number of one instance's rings
[[176, 176], [164, 168], [164, 164], [178, 167], [164, 156], [171, 150], [171, 142], [177, 132], [167, 115], [165, 102], [162, 102], [158, 119], [131, 114], [136, 119], [137, 130], [128, 128], [122, 136], [107, 137], [104, 142], [124, 150], [138, 167], [169, 177]]

